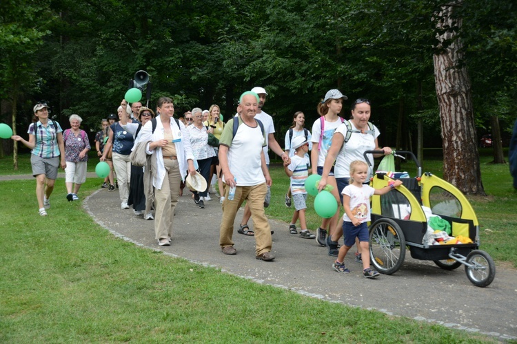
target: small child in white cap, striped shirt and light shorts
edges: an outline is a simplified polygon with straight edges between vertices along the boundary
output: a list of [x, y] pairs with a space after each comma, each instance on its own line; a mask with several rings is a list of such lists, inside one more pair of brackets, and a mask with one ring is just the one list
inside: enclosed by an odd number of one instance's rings
[[314, 239], [316, 235], [307, 230], [307, 222], [305, 221], [305, 209], [307, 205], [307, 191], [305, 191], [305, 180], [309, 175], [309, 158], [307, 152], [309, 151], [309, 142], [305, 136], [296, 136], [291, 142], [291, 147], [296, 151], [291, 157], [291, 163], [284, 162], [283, 169], [285, 174], [291, 178], [291, 193], [294, 202], [294, 214], [292, 215], [289, 230], [291, 234], [298, 234], [296, 230], [296, 221], [300, 219], [301, 232], [300, 237], [304, 239]]

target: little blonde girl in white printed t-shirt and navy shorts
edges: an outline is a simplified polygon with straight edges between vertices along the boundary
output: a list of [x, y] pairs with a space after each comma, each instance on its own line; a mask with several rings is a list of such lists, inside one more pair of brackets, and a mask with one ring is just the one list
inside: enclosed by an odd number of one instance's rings
[[[397, 186], [401, 185], [400, 180], [390, 182], [382, 189], [374, 189], [368, 184], [363, 184], [367, 178], [368, 165], [361, 160], [354, 160], [350, 164], [350, 180], [349, 185], [345, 186], [343, 193], [343, 208], [345, 208], [345, 215], [343, 215], [343, 235], [345, 236], [345, 245], [339, 248], [338, 259], [332, 264], [332, 268], [337, 272], [349, 273], [350, 271], [345, 267], [345, 256], [356, 242], [356, 237], [359, 239], [361, 252], [369, 252], [368, 226], [370, 221], [370, 206], [369, 197], [372, 195], [384, 195]], [[379, 275], [378, 272], [369, 267], [369, 255], [363, 255], [363, 276], [366, 278], [374, 278]]]

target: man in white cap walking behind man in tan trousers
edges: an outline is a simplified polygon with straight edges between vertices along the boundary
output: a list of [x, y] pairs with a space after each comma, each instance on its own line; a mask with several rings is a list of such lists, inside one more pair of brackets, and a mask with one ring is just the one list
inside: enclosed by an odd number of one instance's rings
[[[265, 111], [263, 111], [262, 107], [264, 106], [265, 99], [267, 97], [267, 92], [265, 92], [265, 89], [263, 87], [253, 87], [252, 92], [259, 95], [259, 109], [256, 111], [255, 119], [260, 120], [262, 124], [264, 125], [264, 131], [265, 131], [265, 147], [264, 147], [264, 155], [265, 155], [265, 163], [267, 164], [267, 167], [270, 166], [270, 157], [267, 154], [268, 149], [271, 148], [276, 155], [280, 156], [284, 162], [290, 163], [289, 155], [283, 151], [282, 147], [280, 147], [280, 144], [276, 142], [276, 139], [274, 138], [274, 124], [273, 124], [273, 118], [266, 114]], [[264, 206], [267, 207], [270, 205], [270, 198], [271, 198], [271, 191], [270, 188], [267, 188], [267, 195], [265, 197]], [[250, 220], [250, 217], [252, 216], [252, 213], [250, 211], [250, 207], [246, 206], [244, 207], [244, 215], [243, 219], [241, 220], [241, 224], [239, 224], [239, 230], [238, 232], [245, 235], [254, 235], [254, 232], [250, 230], [250, 228], [247, 226], [247, 222]]]

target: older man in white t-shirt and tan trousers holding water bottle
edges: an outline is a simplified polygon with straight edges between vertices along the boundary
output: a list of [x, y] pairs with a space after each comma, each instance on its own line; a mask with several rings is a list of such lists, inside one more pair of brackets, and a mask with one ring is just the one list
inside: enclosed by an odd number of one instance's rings
[[[272, 261], [271, 227], [264, 211], [265, 194], [272, 181], [262, 149], [265, 146], [265, 134], [255, 120], [258, 103], [259, 96], [254, 92], [244, 92], [237, 107], [239, 116], [227, 122], [219, 140], [219, 165], [223, 172], [223, 182], [229, 186], [225, 187], [219, 245], [225, 255], [237, 253], [232, 241], [234, 220], [241, 204], [246, 201], [255, 224], [255, 257]], [[235, 120], [239, 121], [239, 127], [234, 136]], [[228, 200], [230, 188], [233, 187], [233, 199]]]

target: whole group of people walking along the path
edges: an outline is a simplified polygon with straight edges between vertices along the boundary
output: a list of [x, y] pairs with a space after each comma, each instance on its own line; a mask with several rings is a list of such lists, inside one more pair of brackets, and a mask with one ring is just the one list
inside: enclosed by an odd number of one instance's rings
[[[180, 121], [174, 118], [172, 98], [159, 98], [156, 114], [141, 103], [132, 103], [130, 107], [122, 100], [118, 109], [119, 121], [116, 122], [114, 116], [103, 120], [103, 130], [95, 139], [97, 156], [113, 166], [116, 172], [121, 208], [132, 205], [136, 215], [154, 219], [157, 243], [170, 246], [174, 211], [187, 175], [196, 178], [197, 170], [205, 179], [205, 190], [192, 190], [194, 202], [199, 208], [204, 208], [205, 201], [210, 199], [207, 189], [215, 173], [223, 208], [219, 240], [223, 253], [236, 254], [232, 241], [234, 219], [241, 204], [246, 202], [237, 232], [255, 237], [256, 259], [272, 261], [275, 258], [272, 254], [273, 231], [265, 216], [272, 185], [267, 153], [271, 149], [282, 158], [285, 173], [291, 179], [290, 189], [285, 195], [285, 205], [294, 204], [295, 208], [289, 225], [290, 233], [316, 239], [321, 246], [327, 246], [329, 255], [337, 257], [333, 268], [338, 272], [349, 272], [343, 259], [356, 243], [356, 261], [363, 263], [363, 274], [376, 277], [378, 272], [369, 268], [367, 254], [365, 223], [369, 220], [369, 201], [366, 201], [373, 193], [388, 192], [398, 184], [381, 191], [366, 185], [373, 173], [364, 164], [363, 153], [370, 150], [383, 151], [384, 155], [392, 153], [389, 147], [378, 146], [380, 132], [369, 122], [369, 100], [357, 99], [352, 104], [349, 119], [345, 119], [339, 114], [347, 97], [338, 89], [331, 89], [318, 103], [320, 118], [314, 122], [312, 130], [305, 128], [302, 112], [294, 114], [292, 127], [285, 133], [285, 149], [282, 149], [274, 138], [272, 117], [262, 109], [266, 98], [267, 92], [263, 87], [244, 92], [239, 98], [237, 114], [226, 124], [217, 105], [212, 105], [205, 115], [196, 107]], [[34, 117], [28, 130], [29, 141], [20, 136], [12, 138], [32, 149], [39, 214], [44, 216], [47, 215], [46, 209], [50, 208], [49, 199], [59, 164], [66, 171], [67, 199], [79, 199], [77, 193], [85, 181], [90, 144], [88, 136], [79, 129], [81, 118], [77, 115], [70, 116], [71, 128], [65, 133], [57, 122], [48, 118], [47, 105], [37, 104]], [[219, 142], [210, 145], [209, 138], [216, 138]], [[135, 149], [134, 153], [147, 156], [145, 166], [131, 164], [130, 155]], [[371, 166], [373, 158], [372, 154], [368, 156]], [[310, 173], [321, 175], [319, 190], [327, 184], [334, 186], [332, 195], [345, 211], [341, 219], [339, 210], [330, 219], [322, 219], [315, 235], [307, 229], [305, 221], [305, 180]], [[103, 186], [107, 186], [109, 191], [115, 189], [112, 171]], [[354, 189], [350, 189], [352, 186]], [[367, 209], [360, 212], [360, 216], [353, 209], [358, 205], [358, 199], [367, 203]], [[254, 222], [253, 230], [247, 225], [250, 217]], [[301, 224], [299, 233], [296, 228], [298, 219]], [[343, 234], [345, 245], [338, 249], [338, 239]], [[361, 258], [362, 252], [365, 254]]]

